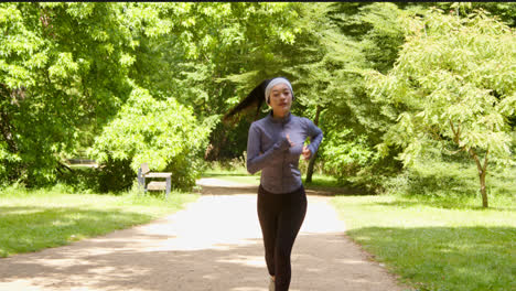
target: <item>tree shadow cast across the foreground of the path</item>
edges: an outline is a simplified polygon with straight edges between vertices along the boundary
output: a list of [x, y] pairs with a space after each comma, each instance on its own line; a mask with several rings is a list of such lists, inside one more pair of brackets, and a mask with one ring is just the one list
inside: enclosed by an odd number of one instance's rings
[[[173, 237], [144, 236], [168, 240]], [[3, 259], [0, 290], [267, 290], [260, 238], [208, 249], [135, 250], [132, 241], [89, 241], [82, 248]], [[129, 247], [129, 249], [127, 249]], [[301, 234], [292, 251], [291, 290], [390, 290], [343, 234]], [[342, 251], [346, 249], [346, 251]], [[104, 250], [104, 251], [103, 251]], [[11, 282], [11, 283], [9, 283]], [[20, 289], [13, 289], [13, 288]]]

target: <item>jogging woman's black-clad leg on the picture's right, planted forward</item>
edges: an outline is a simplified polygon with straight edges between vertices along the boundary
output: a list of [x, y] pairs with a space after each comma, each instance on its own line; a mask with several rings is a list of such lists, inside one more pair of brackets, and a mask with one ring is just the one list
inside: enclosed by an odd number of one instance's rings
[[275, 249], [276, 291], [287, 291], [290, 285], [290, 255], [299, 229], [307, 214], [307, 194], [304, 187], [284, 194], [283, 207], [278, 217]]

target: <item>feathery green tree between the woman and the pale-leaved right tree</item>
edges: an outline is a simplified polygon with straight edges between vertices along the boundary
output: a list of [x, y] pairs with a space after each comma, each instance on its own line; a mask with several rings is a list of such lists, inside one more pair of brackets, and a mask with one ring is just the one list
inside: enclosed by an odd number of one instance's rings
[[320, 116], [325, 171], [374, 190], [378, 177], [397, 165], [389, 157], [376, 158], [374, 146], [391, 121], [367, 95], [364, 72], [393, 67], [404, 41], [397, 21], [400, 9], [393, 3], [305, 6], [299, 22], [308, 29], [297, 37], [295, 56], [287, 69], [294, 76], [299, 110], [315, 120]]

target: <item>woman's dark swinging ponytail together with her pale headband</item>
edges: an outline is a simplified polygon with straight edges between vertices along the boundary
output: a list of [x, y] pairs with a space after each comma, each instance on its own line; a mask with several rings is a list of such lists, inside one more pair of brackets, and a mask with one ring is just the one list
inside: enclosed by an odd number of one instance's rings
[[269, 87], [270, 88], [280, 84], [280, 83], [286, 83], [290, 87], [290, 91], [292, 93], [292, 100], [294, 100], [294, 95], [292, 90], [292, 85], [290, 84], [289, 79], [286, 77], [277, 77], [277, 78], [271, 78], [271, 79], [265, 79], [258, 86], [256, 86], [249, 95], [247, 95], [244, 100], [241, 100], [237, 106], [235, 106], [232, 110], [229, 110], [224, 117], [223, 121], [224, 122], [234, 122], [233, 117], [241, 111], [249, 110], [250, 108], [256, 106], [256, 114], [255, 114], [255, 120], [258, 118], [258, 115], [260, 114], [260, 108], [264, 101], [266, 100], [266, 90], [268, 85], [272, 85]]

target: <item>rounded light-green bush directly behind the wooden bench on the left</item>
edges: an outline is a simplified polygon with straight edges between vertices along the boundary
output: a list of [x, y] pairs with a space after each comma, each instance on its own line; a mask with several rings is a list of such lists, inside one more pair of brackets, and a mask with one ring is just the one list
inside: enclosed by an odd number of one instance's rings
[[143, 162], [151, 171], [172, 172], [173, 186], [187, 188], [198, 177], [200, 158], [213, 127], [209, 122], [200, 125], [192, 109], [174, 98], [155, 100], [148, 90], [136, 87], [95, 139], [89, 154], [109, 169], [104, 177], [106, 188], [130, 186]]

